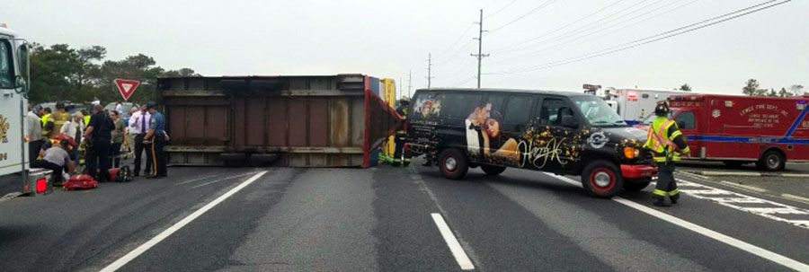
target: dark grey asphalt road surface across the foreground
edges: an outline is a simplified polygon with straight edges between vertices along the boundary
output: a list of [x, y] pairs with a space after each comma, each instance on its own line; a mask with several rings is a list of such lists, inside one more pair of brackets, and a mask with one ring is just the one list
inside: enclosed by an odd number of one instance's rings
[[575, 177], [511, 169], [169, 175], [0, 202], [0, 271], [461, 270], [435, 216], [476, 271], [809, 269], [809, 204], [685, 175], [669, 208], [651, 187], [601, 199]]

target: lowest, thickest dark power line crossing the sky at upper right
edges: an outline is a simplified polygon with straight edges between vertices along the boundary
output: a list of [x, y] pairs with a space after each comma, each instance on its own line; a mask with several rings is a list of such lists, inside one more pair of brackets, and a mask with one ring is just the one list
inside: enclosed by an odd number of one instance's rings
[[[725, 13], [723, 15], [716, 16], [716, 17], [708, 19], [708, 20], [704, 20], [704, 21], [701, 21], [701, 22], [696, 22], [696, 23], [689, 24], [688, 26], [680, 27], [680, 28], [677, 28], [677, 29], [674, 29], [674, 30], [671, 30], [671, 31], [665, 31], [665, 32], [662, 32], [662, 33], [659, 33], [659, 34], [656, 34], [656, 35], [653, 35], [653, 36], [646, 37], [644, 39], [636, 39], [635, 41], [632, 41], [632, 42], [628, 42], [628, 43], [618, 45], [618, 46], [615, 46], [615, 47], [612, 47], [612, 48], [606, 48], [606, 49], [602, 49], [602, 50], [599, 50], [599, 51], [594, 51], [594, 52], [584, 54], [584, 55], [581, 55], [581, 56], [578, 56], [578, 57], [571, 57], [571, 58], [567, 58], [567, 59], [564, 59], [564, 60], [549, 62], [549, 63], [538, 65], [538, 66], [531, 66], [531, 67], [521, 68], [521, 69], [512, 70], [512, 71], [503, 71], [503, 73], [506, 73], [506, 74], [525, 73], [525, 72], [536, 71], [536, 70], [540, 70], [540, 69], [547, 69], [547, 68], [555, 67], [555, 66], [564, 66], [566, 64], [571, 64], [571, 63], [574, 63], [574, 62], [580, 62], [580, 61], [583, 61], [583, 60], [591, 59], [593, 57], [601, 57], [601, 56], [617, 53], [617, 52], [620, 52], [620, 51], [623, 51], [623, 50], [627, 50], [629, 48], [636, 48], [636, 47], [639, 47], [639, 46], [642, 46], [642, 45], [645, 45], [645, 44], [653, 43], [653, 42], [658, 41], [658, 40], [669, 39], [669, 38], [672, 38], [672, 37], [680, 36], [682, 34], [685, 34], [685, 33], [691, 32], [691, 31], [698, 31], [698, 30], [707, 28], [709, 26], [715, 25], [717, 23], [727, 22], [727, 21], [730, 21], [730, 20], [733, 20], [733, 19], [736, 19], [736, 18], [739, 18], [739, 17], [742, 17], [742, 16], [749, 15], [751, 13], [757, 13], [757, 12], [760, 12], [762, 10], [766, 10], [766, 9], [778, 6], [780, 4], [786, 4], [788, 2], [791, 2], [792, 0], [784, 0], [784, 1], [781, 1], [781, 2], [778, 2], [778, 3], [775, 3], [775, 4], [770, 4], [770, 3], [773, 3], [773, 2], [776, 2], [776, 1], [778, 1], [778, 0], [771, 0], [771, 1], [763, 2], [761, 4], [755, 4], [755, 5], [752, 5], [750, 7], [743, 8], [741, 10], [735, 11], [733, 13]], [[765, 4], [769, 4], [769, 5], [765, 5]], [[762, 5], [765, 5], [765, 6], [762, 6]], [[744, 11], [748, 11], [748, 12], [741, 13], [741, 12], [744, 12]], [[735, 13], [740, 13], [740, 14], [735, 14]], [[733, 14], [735, 14], [735, 15], [733, 15]], [[733, 16], [731, 16], [731, 15], [733, 15]], [[728, 17], [728, 16], [730, 16], [730, 17]], [[710, 22], [710, 21], [714, 21], [716, 19], [723, 18], [723, 17], [728, 17], [728, 18], [725, 18], [725, 19], [722, 19], [722, 20], [719, 20], [719, 21], [716, 21], [716, 22]], [[699, 24], [702, 24], [702, 25], [699, 25]], [[693, 27], [693, 28], [690, 28], [690, 27]], [[663, 36], [661, 37], [661, 35], [663, 35]], [[655, 38], [655, 37], [657, 37], [657, 38]], [[642, 42], [640, 42], [640, 41], [642, 41]]]

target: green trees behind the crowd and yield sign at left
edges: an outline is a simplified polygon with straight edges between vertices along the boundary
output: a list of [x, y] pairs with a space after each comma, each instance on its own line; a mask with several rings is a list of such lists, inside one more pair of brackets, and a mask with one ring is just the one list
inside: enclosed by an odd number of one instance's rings
[[129, 101], [156, 101], [159, 76], [201, 76], [191, 68], [166, 70], [157, 66], [153, 57], [138, 54], [120, 60], [109, 60], [107, 48], [90, 46], [70, 48], [67, 44], [45, 47], [31, 45], [31, 104], [48, 101], [89, 102], [106, 104], [122, 101], [113, 80], [137, 80], [138, 89]]

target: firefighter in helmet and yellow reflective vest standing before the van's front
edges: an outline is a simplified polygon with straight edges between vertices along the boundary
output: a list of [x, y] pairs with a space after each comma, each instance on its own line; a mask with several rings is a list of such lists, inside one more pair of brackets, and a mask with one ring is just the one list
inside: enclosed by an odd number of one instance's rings
[[645, 148], [652, 151], [654, 162], [658, 166], [657, 185], [653, 191], [654, 206], [670, 206], [666, 203], [666, 197], [671, 199], [671, 204], [677, 204], [680, 191], [674, 181], [674, 162], [680, 161], [681, 154], [688, 156], [690, 152], [677, 123], [666, 118], [668, 114], [669, 105], [665, 101], [658, 102], [654, 108], [657, 118], [649, 126], [644, 144]]

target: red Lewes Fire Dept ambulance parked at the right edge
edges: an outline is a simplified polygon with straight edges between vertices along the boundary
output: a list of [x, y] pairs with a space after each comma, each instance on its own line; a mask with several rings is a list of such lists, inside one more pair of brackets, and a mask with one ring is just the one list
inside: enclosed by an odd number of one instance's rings
[[688, 136], [689, 159], [755, 162], [767, 171], [783, 170], [787, 161], [809, 162], [809, 96], [679, 94], [669, 103]]

